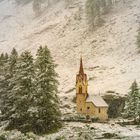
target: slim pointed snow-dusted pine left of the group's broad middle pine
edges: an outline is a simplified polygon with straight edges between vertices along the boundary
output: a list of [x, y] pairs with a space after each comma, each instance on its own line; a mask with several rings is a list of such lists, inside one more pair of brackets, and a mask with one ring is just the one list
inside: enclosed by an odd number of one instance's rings
[[[7, 57], [5, 57], [7, 58]], [[5, 67], [5, 75], [3, 75], [3, 80], [2, 80], [2, 83], [4, 85], [2, 85], [2, 93], [1, 93], [1, 99], [2, 99], [2, 102], [1, 102], [1, 111], [2, 113], [4, 114], [3, 115], [3, 119], [6, 119], [9, 117], [9, 110], [11, 109], [11, 104], [12, 104], [12, 101], [9, 100], [9, 94], [13, 88], [13, 83], [11, 81], [11, 79], [13, 78], [13, 75], [15, 73], [15, 70], [16, 70], [16, 62], [17, 62], [17, 59], [18, 59], [18, 53], [16, 51], [16, 49], [13, 48], [10, 56], [9, 56], [9, 59], [6, 61], [4, 67]]]

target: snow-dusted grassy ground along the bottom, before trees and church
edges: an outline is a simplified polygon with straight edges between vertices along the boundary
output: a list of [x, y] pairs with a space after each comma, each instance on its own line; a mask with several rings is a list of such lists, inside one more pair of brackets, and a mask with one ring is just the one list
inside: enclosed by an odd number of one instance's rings
[[[112, 137], [105, 138], [105, 134], [110, 134]], [[28, 133], [22, 134], [17, 130], [13, 131], [0, 131], [1, 136], [5, 136], [7, 140], [139, 140], [140, 139], [140, 127], [137, 126], [120, 126], [114, 122], [109, 123], [65, 123], [64, 127], [59, 132], [36, 136], [35, 134]]]

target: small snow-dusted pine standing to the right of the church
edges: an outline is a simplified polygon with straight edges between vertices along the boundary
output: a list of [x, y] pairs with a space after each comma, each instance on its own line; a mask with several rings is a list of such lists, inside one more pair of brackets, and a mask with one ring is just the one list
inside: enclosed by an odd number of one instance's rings
[[125, 108], [125, 114], [127, 115], [127, 117], [132, 117], [136, 120], [136, 118], [138, 117], [138, 106], [140, 102], [139, 99], [138, 84], [136, 81], [134, 81], [127, 96]]

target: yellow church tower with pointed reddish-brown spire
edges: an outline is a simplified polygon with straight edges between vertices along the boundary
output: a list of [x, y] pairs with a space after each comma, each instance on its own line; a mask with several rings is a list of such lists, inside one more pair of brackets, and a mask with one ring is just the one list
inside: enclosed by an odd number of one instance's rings
[[82, 58], [80, 60], [79, 73], [76, 76], [76, 104], [77, 112], [83, 114], [85, 112], [86, 99], [88, 97], [88, 81], [87, 75], [84, 73]]

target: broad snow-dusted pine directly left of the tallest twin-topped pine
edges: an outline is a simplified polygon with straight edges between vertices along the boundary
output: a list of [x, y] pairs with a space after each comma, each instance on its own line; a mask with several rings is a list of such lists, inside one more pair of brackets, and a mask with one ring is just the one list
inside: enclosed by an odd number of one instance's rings
[[11, 79], [13, 87], [8, 95], [11, 101], [8, 110], [9, 125], [7, 129], [18, 129], [22, 132], [30, 131], [29, 107], [34, 92], [34, 64], [30, 52], [21, 54], [16, 64], [16, 70]]

